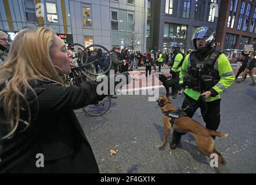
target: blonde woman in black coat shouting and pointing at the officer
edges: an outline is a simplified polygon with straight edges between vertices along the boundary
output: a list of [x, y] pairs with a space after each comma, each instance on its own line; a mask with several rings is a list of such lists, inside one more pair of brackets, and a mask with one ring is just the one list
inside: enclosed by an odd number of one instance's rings
[[0, 173], [99, 172], [73, 110], [104, 95], [95, 82], [64, 86], [69, 54], [51, 28], [23, 29], [13, 40], [0, 68]]

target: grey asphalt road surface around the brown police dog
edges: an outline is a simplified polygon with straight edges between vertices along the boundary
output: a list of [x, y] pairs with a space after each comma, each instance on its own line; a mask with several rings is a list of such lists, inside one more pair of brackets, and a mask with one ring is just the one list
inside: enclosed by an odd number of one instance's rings
[[[168, 73], [168, 69], [163, 72]], [[222, 94], [218, 130], [229, 136], [217, 138], [215, 146], [227, 160], [223, 173], [256, 172], [256, 87], [250, 83], [248, 77]], [[163, 86], [158, 88], [160, 95], [165, 95]], [[176, 150], [171, 150], [169, 144], [158, 150], [164, 135], [163, 114], [156, 102], [149, 102], [149, 95], [120, 95], [111, 101], [109, 112], [100, 117], [87, 116], [82, 109], [75, 111], [100, 173], [216, 173], [210, 166], [211, 159], [200, 153], [192, 135], [183, 136]], [[178, 108], [182, 101], [179, 96], [172, 103]], [[204, 125], [201, 117], [193, 119]], [[110, 149], [117, 154], [110, 157]]]

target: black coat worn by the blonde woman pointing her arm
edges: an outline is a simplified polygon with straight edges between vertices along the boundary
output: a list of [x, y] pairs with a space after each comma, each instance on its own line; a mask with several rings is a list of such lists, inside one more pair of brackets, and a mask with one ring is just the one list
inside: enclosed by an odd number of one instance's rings
[[[128, 79], [128, 73], [124, 74]], [[33, 83], [38, 102], [33, 93], [27, 99], [34, 120], [23, 132], [26, 125], [20, 123], [11, 139], [2, 140], [0, 173], [99, 173], [91, 146], [73, 111], [105, 97], [97, 95], [97, 86], [93, 82], [68, 88]], [[0, 91], [3, 87], [0, 86]], [[3, 112], [0, 101], [1, 121], [5, 117]], [[27, 111], [21, 112], [21, 117], [26, 120]], [[0, 124], [2, 134], [6, 131], [3, 123]], [[44, 168], [37, 166], [41, 164], [41, 154]]]

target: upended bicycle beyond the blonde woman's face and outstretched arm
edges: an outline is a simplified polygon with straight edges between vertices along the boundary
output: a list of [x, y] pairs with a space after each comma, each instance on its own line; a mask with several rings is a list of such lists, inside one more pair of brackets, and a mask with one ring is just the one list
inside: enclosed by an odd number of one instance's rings
[[[68, 49], [72, 46], [79, 46], [84, 49], [84, 51], [82, 52], [81, 56], [73, 57], [73, 59], [78, 58], [78, 60], [80, 60], [80, 65], [71, 68], [70, 75], [65, 75], [66, 86], [70, 86], [71, 84], [81, 84], [89, 81], [96, 81], [97, 77], [100, 77], [109, 72], [112, 63], [111, 54], [105, 47], [100, 45], [84, 47], [78, 43], [74, 43], [73, 45], [70, 45]], [[96, 47], [98, 50], [103, 50], [104, 56], [102, 55], [103, 58], [101, 58], [101, 61], [105, 61], [106, 57], [109, 57], [109, 64], [102, 66], [102, 64], [99, 64], [100, 61], [95, 57], [95, 55], [89, 56], [88, 50], [90, 50], [91, 47]], [[82, 109], [89, 116], [102, 116], [110, 109], [110, 106], [111, 98], [110, 96], [107, 96], [102, 101], [99, 101], [93, 105], [88, 105]]]

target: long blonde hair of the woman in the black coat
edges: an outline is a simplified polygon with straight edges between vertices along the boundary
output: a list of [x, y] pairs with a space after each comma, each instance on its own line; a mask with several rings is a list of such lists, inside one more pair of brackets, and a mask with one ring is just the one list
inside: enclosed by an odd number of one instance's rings
[[[12, 137], [19, 123], [26, 124], [27, 127], [30, 124], [26, 94], [28, 90], [34, 95], [35, 92], [28, 80], [63, 84], [51, 60], [54, 35], [55, 31], [51, 28], [26, 28], [13, 40], [6, 64], [0, 67], [0, 84], [5, 83], [5, 88], [0, 92], [0, 102], [5, 111], [4, 122], [9, 128], [9, 134], [3, 139]], [[20, 119], [20, 109], [24, 109], [24, 105], [21, 108], [21, 103], [26, 103], [28, 120], [25, 121]]]

